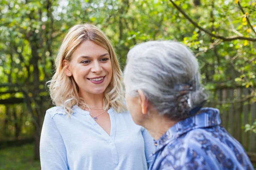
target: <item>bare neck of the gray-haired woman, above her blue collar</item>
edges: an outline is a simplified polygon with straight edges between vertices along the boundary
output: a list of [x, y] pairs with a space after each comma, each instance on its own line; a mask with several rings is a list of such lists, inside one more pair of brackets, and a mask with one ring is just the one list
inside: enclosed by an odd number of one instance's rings
[[143, 127], [148, 130], [148, 133], [154, 140], [160, 139], [166, 131], [175, 125], [178, 121], [173, 121], [165, 116], [160, 116], [158, 113], [150, 113], [150, 119], [146, 120]]

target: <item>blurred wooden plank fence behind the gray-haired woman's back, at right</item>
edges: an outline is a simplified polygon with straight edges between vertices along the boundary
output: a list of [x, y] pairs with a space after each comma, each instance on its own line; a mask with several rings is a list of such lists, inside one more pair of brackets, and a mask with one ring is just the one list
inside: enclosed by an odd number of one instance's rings
[[251, 99], [248, 88], [215, 89], [206, 106], [218, 108], [222, 126], [249, 155], [256, 155], [256, 133], [244, 132], [244, 125], [252, 125], [256, 119], [256, 102]]

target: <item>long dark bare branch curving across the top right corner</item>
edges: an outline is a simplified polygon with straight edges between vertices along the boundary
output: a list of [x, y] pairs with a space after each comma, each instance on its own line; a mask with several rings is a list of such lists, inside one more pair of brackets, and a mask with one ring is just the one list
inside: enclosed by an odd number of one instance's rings
[[171, 3], [173, 4], [173, 6], [175, 6], [175, 8], [180, 11], [180, 13], [183, 14], [183, 16], [189, 20], [190, 23], [192, 23], [193, 26], [195, 26], [196, 28], [200, 29], [201, 31], [204, 31], [205, 33], [209, 34], [212, 37], [221, 39], [223, 41], [232, 41], [232, 40], [248, 40], [248, 41], [256, 41], [256, 38], [250, 38], [250, 37], [240, 37], [240, 36], [232, 36], [232, 37], [223, 37], [223, 36], [219, 36], [216, 34], [212, 34], [209, 30], [202, 28], [201, 26], [198, 25], [198, 23], [196, 23], [195, 21], [193, 21], [180, 7], [178, 7], [172, 0], [170, 0]]

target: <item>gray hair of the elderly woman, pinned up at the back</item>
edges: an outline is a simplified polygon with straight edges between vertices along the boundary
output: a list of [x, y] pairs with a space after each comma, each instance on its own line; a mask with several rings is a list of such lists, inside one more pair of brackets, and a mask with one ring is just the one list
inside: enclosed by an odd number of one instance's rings
[[[160, 115], [173, 120], [192, 116], [190, 110], [208, 97], [200, 85], [197, 59], [179, 42], [135, 45], [128, 52], [124, 75], [127, 94], [137, 96], [141, 89]], [[182, 90], [188, 83], [192, 84], [190, 90]]]

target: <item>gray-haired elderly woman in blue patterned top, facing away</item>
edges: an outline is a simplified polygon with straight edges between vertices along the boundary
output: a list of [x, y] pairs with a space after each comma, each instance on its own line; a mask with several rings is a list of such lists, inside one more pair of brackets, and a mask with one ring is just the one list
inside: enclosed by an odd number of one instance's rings
[[195, 56], [184, 45], [151, 41], [128, 53], [126, 104], [156, 150], [150, 170], [252, 170], [244, 148], [221, 127], [215, 108], [202, 108]]

